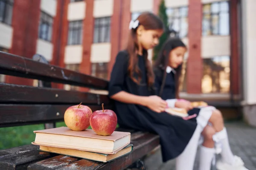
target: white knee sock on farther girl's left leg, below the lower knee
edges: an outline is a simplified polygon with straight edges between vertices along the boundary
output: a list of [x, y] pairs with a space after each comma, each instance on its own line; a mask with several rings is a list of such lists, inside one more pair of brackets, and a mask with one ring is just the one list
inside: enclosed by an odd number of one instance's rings
[[212, 164], [212, 158], [215, 154], [214, 148], [200, 147], [200, 162], [198, 170], [210, 170]]

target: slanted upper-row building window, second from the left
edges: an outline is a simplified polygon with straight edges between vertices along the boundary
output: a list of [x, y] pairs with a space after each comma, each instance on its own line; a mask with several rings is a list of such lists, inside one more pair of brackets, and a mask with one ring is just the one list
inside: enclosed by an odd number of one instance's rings
[[38, 37], [45, 41], [52, 41], [52, 17], [41, 11], [40, 23], [39, 23], [39, 31]]

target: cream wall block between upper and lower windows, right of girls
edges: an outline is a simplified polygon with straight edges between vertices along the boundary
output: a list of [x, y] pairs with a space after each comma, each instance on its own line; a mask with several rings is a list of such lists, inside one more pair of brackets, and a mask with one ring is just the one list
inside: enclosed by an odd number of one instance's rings
[[201, 40], [201, 56], [203, 58], [230, 56], [230, 36], [206, 36]]

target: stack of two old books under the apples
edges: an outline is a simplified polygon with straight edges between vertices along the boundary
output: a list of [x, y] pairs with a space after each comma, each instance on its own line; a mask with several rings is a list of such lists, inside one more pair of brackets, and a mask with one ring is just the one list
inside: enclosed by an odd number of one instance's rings
[[68, 127], [35, 130], [39, 150], [93, 161], [108, 162], [131, 153], [131, 133], [114, 131], [110, 136], [97, 135], [93, 130], [73, 131]]

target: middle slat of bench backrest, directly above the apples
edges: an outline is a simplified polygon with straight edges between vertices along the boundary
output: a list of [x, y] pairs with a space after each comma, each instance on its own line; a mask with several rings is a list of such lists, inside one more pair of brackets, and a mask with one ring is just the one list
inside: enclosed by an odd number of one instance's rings
[[107, 95], [0, 83], [0, 103], [110, 104]]

